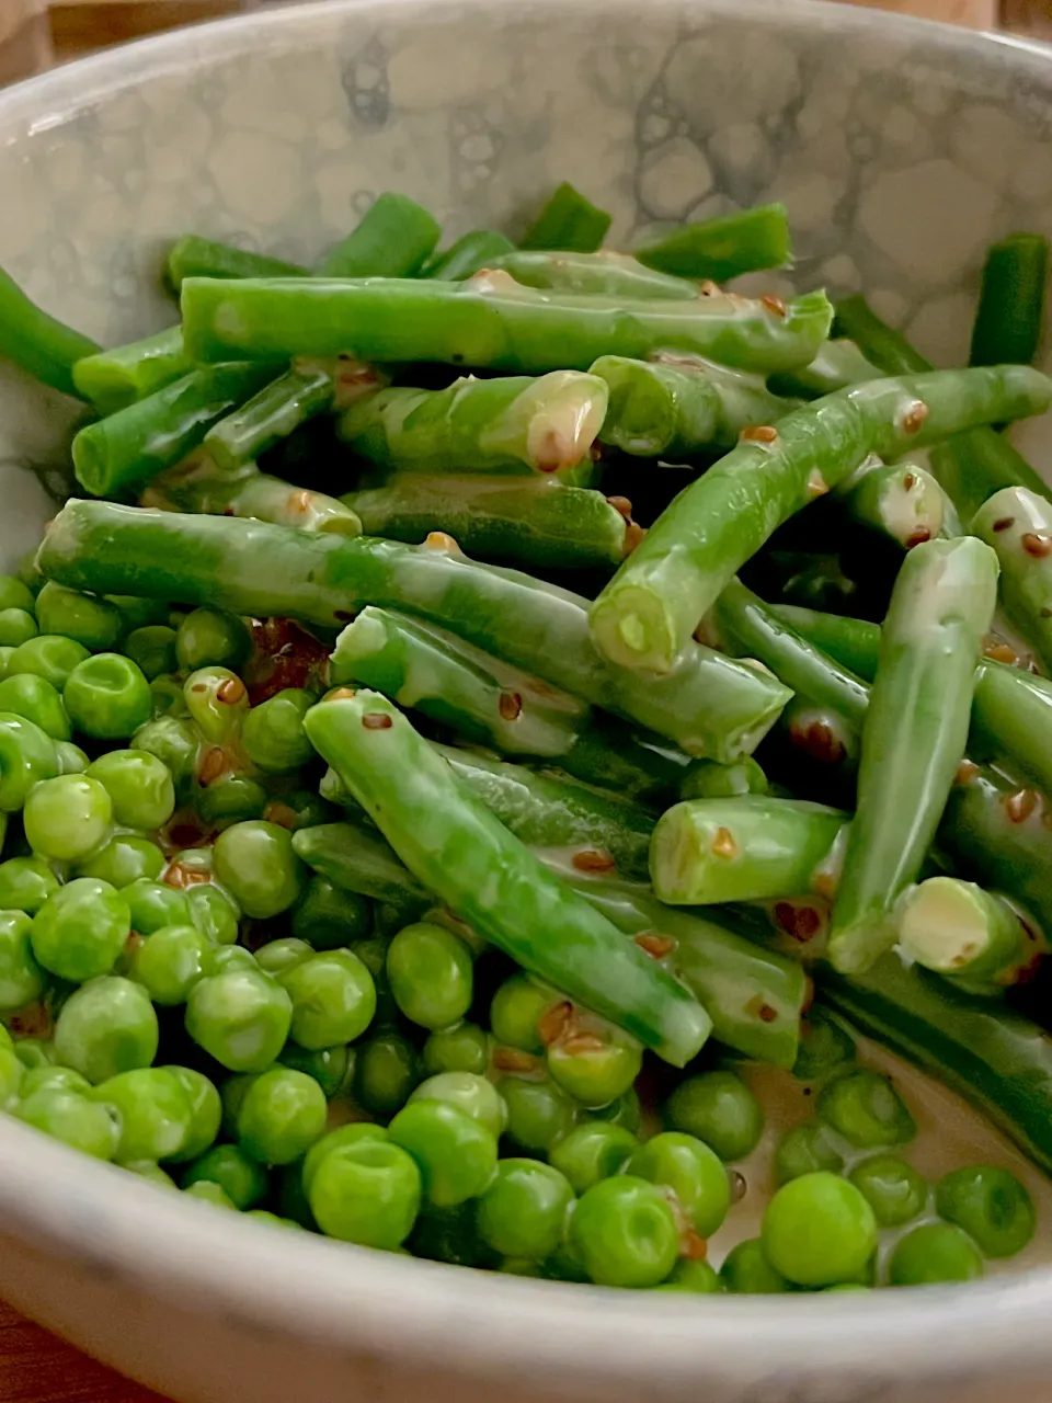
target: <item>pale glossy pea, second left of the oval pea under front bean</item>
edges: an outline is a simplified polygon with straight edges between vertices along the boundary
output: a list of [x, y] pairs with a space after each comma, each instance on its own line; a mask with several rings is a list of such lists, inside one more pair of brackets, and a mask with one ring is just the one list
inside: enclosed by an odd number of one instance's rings
[[285, 989], [252, 965], [199, 979], [187, 1000], [187, 1033], [231, 1072], [268, 1068], [285, 1047], [292, 1023]]

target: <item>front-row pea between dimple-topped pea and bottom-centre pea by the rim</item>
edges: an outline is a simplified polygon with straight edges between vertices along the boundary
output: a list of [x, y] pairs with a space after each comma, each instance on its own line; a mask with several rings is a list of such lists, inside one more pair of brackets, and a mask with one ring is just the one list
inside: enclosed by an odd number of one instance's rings
[[502, 1159], [478, 1200], [478, 1236], [504, 1257], [541, 1261], [562, 1240], [574, 1202], [569, 1181], [536, 1159]]

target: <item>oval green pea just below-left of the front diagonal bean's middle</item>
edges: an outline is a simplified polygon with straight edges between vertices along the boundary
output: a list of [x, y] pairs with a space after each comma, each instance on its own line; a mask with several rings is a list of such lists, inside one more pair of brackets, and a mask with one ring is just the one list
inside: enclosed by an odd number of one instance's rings
[[411, 1023], [447, 1028], [471, 1007], [474, 968], [463, 940], [445, 926], [405, 926], [387, 950], [394, 1002]]

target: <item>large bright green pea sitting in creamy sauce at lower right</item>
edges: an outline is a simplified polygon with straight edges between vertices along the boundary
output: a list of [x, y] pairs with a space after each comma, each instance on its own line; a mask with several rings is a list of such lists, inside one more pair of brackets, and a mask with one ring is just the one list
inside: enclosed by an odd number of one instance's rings
[[656, 1287], [679, 1257], [668, 1200], [633, 1174], [600, 1179], [584, 1194], [569, 1221], [569, 1243], [598, 1287]]

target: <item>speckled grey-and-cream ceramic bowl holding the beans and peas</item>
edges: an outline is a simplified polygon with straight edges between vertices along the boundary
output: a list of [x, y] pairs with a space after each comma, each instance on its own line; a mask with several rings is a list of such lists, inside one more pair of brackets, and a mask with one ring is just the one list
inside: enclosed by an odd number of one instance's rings
[[[800, 285], [864, 286], [950, 359], [985, 243], [1052, 234], [1051, 129], [1045, 51], [816, 0], [344, 0], [0, 94], [0, 262], [119, 341], [171, 317], [159, 251], [188, 229], [310, 260], [389, 188], [513, 231], [568, 178], [614, 243], [780, 198]], [[0, 372], [6, 558], [69, 422]], [[262, 1229], [7, 1121], [0, 1292], [185, 1403], [1037, 1403], [1052, 1368], [1052, 1270], [833, 1301], [558, 1287]]]

